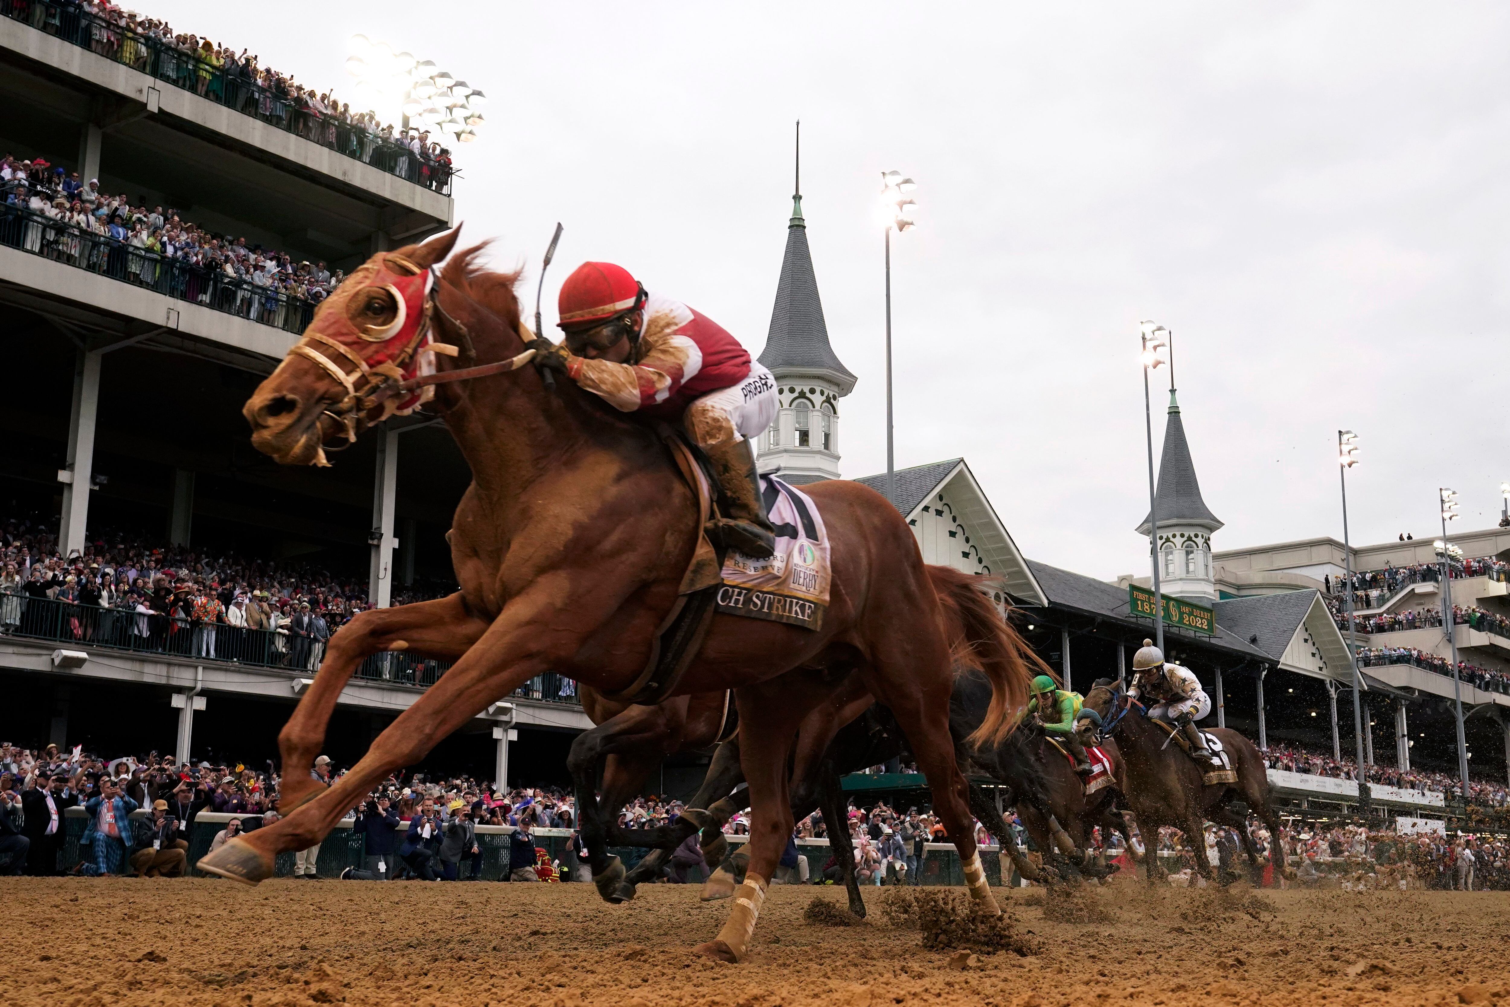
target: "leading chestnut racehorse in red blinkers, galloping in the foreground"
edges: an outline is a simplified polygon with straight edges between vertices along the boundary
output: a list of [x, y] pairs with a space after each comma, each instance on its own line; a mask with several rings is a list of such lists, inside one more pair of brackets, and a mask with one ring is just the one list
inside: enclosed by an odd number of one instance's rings
[[[432, 405], [473, 473], [448, 536], [461, 590], [364, 611], [331, 637], [314, 684], [279, 734], [288, 815], [201, 859], [201, 870], [248, 883], [272, 876], [278, 853], [320, 842], [391, 770], [418, 762], [547, 670], [610, 696], [630, 690], [676, 601], [701, 518], [660, 435], [571, 382], [548, 386], [521, 367], [532, 350], [513, 294], [518, 276], [480, 267], [480, 246], [436, 269], [456, 237], [373, 255], [319, 306], [243, 414], [254, 447], [287, 465], [311, 465], [323, 462], [326, 441], [358, 436], [433, 385]], [[427, 374], [432, 361], [438, 373]], [[432, 380], [464, 371], [467, 380]], [[850, 673], [906, 731], [971, 895], [1000, 912], [948, 732], [950, 646], [912, 531], [885, 497], [859, 483], [832, 480], [811, 495], [834, 557], [821, 630], [714, 614], [673, 690], [734, 688], [738, 704], [750, 870], [717, 939], [699, 947], [731, 962], [747, 951], [766, 879], [791, 835], [788, 753], [797, 723]], [[310, 767], [341, 688], [384, 649], [455, 664], [350, 771], [322, 788]], [[978, 740], [995, 743], [1027, 699], [1028, 675], [1010, 648], [985, 642], [980, 651], [992, 701]], [[787, 675], [793, 669], [808, 673]]]

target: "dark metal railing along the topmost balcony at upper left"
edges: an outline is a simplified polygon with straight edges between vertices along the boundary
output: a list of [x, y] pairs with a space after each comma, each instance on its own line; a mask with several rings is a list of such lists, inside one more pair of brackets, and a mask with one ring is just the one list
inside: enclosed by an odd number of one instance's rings
[[171, 42], [140, 35], [125, 24], [86, 12], [77, 0], [0, 0], [0, 15], [88, 48], [207, 101], [261, 119], [279, 130], [371, 165], [417, 186], [450, 195], [455, 172], [448, 165], [421, 157], [403, 143], [322, 115], [296, 101], [281, 85], [264, 88], [243, 69], [190, 54]]

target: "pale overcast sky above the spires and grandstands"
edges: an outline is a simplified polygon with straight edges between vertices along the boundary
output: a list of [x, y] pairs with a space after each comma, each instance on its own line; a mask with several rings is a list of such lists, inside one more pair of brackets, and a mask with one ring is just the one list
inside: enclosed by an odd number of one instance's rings
[[[1046, 9], [1048, 8], [1048, 9]], [[350, 94], [355, 32], [492, 98], [456, 217], [528, 287], [624, 264], [766, 341], [803, 121], [829, 334], [859, 376], [843, 470], [885, 468], [879, 172], [897, 465], [965, 456], [1022, 551], [1146, 572], [1137, 323], [1175, 332], [1217, 550], [1498, 519], [1510, 9], [1489, 3], [243, 3], [142, 0]], [[553, 331], [553, 329], [551, 329]], [[1154, 396], [1155, 450], [1167, 379]]]

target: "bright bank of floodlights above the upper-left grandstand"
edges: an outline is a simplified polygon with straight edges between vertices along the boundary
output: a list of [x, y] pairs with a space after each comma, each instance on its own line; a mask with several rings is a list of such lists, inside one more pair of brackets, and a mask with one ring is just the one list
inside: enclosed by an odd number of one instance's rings
[[411, 119], [455, 136], [462, 143], [477, 139], [483, 118], [480, 109], [488, 95], [474, 91], [465, 80], [456, 80], [432, 60], [417, 60], [411, 53], [397, 53], [388, 42], [365, 35], [353, 35], [346, 72], [356, 79], [356, 95], [371, 104], [399, 106], [403, 130]]

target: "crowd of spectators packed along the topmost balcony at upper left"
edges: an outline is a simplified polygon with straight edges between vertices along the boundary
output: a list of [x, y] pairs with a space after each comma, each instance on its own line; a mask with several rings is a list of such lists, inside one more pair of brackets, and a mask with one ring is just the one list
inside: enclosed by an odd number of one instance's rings
[[107, 0], [0, 0], [0, 14], [415, 184], [448, 190], [451, 156], [429, 131], [396, 130], [331, 91], [261, 66], [245, 48], [175, 32]]

